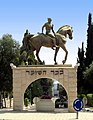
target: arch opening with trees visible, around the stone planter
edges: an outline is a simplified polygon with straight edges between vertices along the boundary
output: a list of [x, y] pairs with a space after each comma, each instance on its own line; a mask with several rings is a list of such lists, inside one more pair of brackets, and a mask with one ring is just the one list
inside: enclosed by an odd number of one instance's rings
[[51, 99], [56, 109], [68, 108], [68, 95], [64, 86], [52, 78], [34, 80], [24, 93], [24, 109], [36, 111], [40, 99]]

